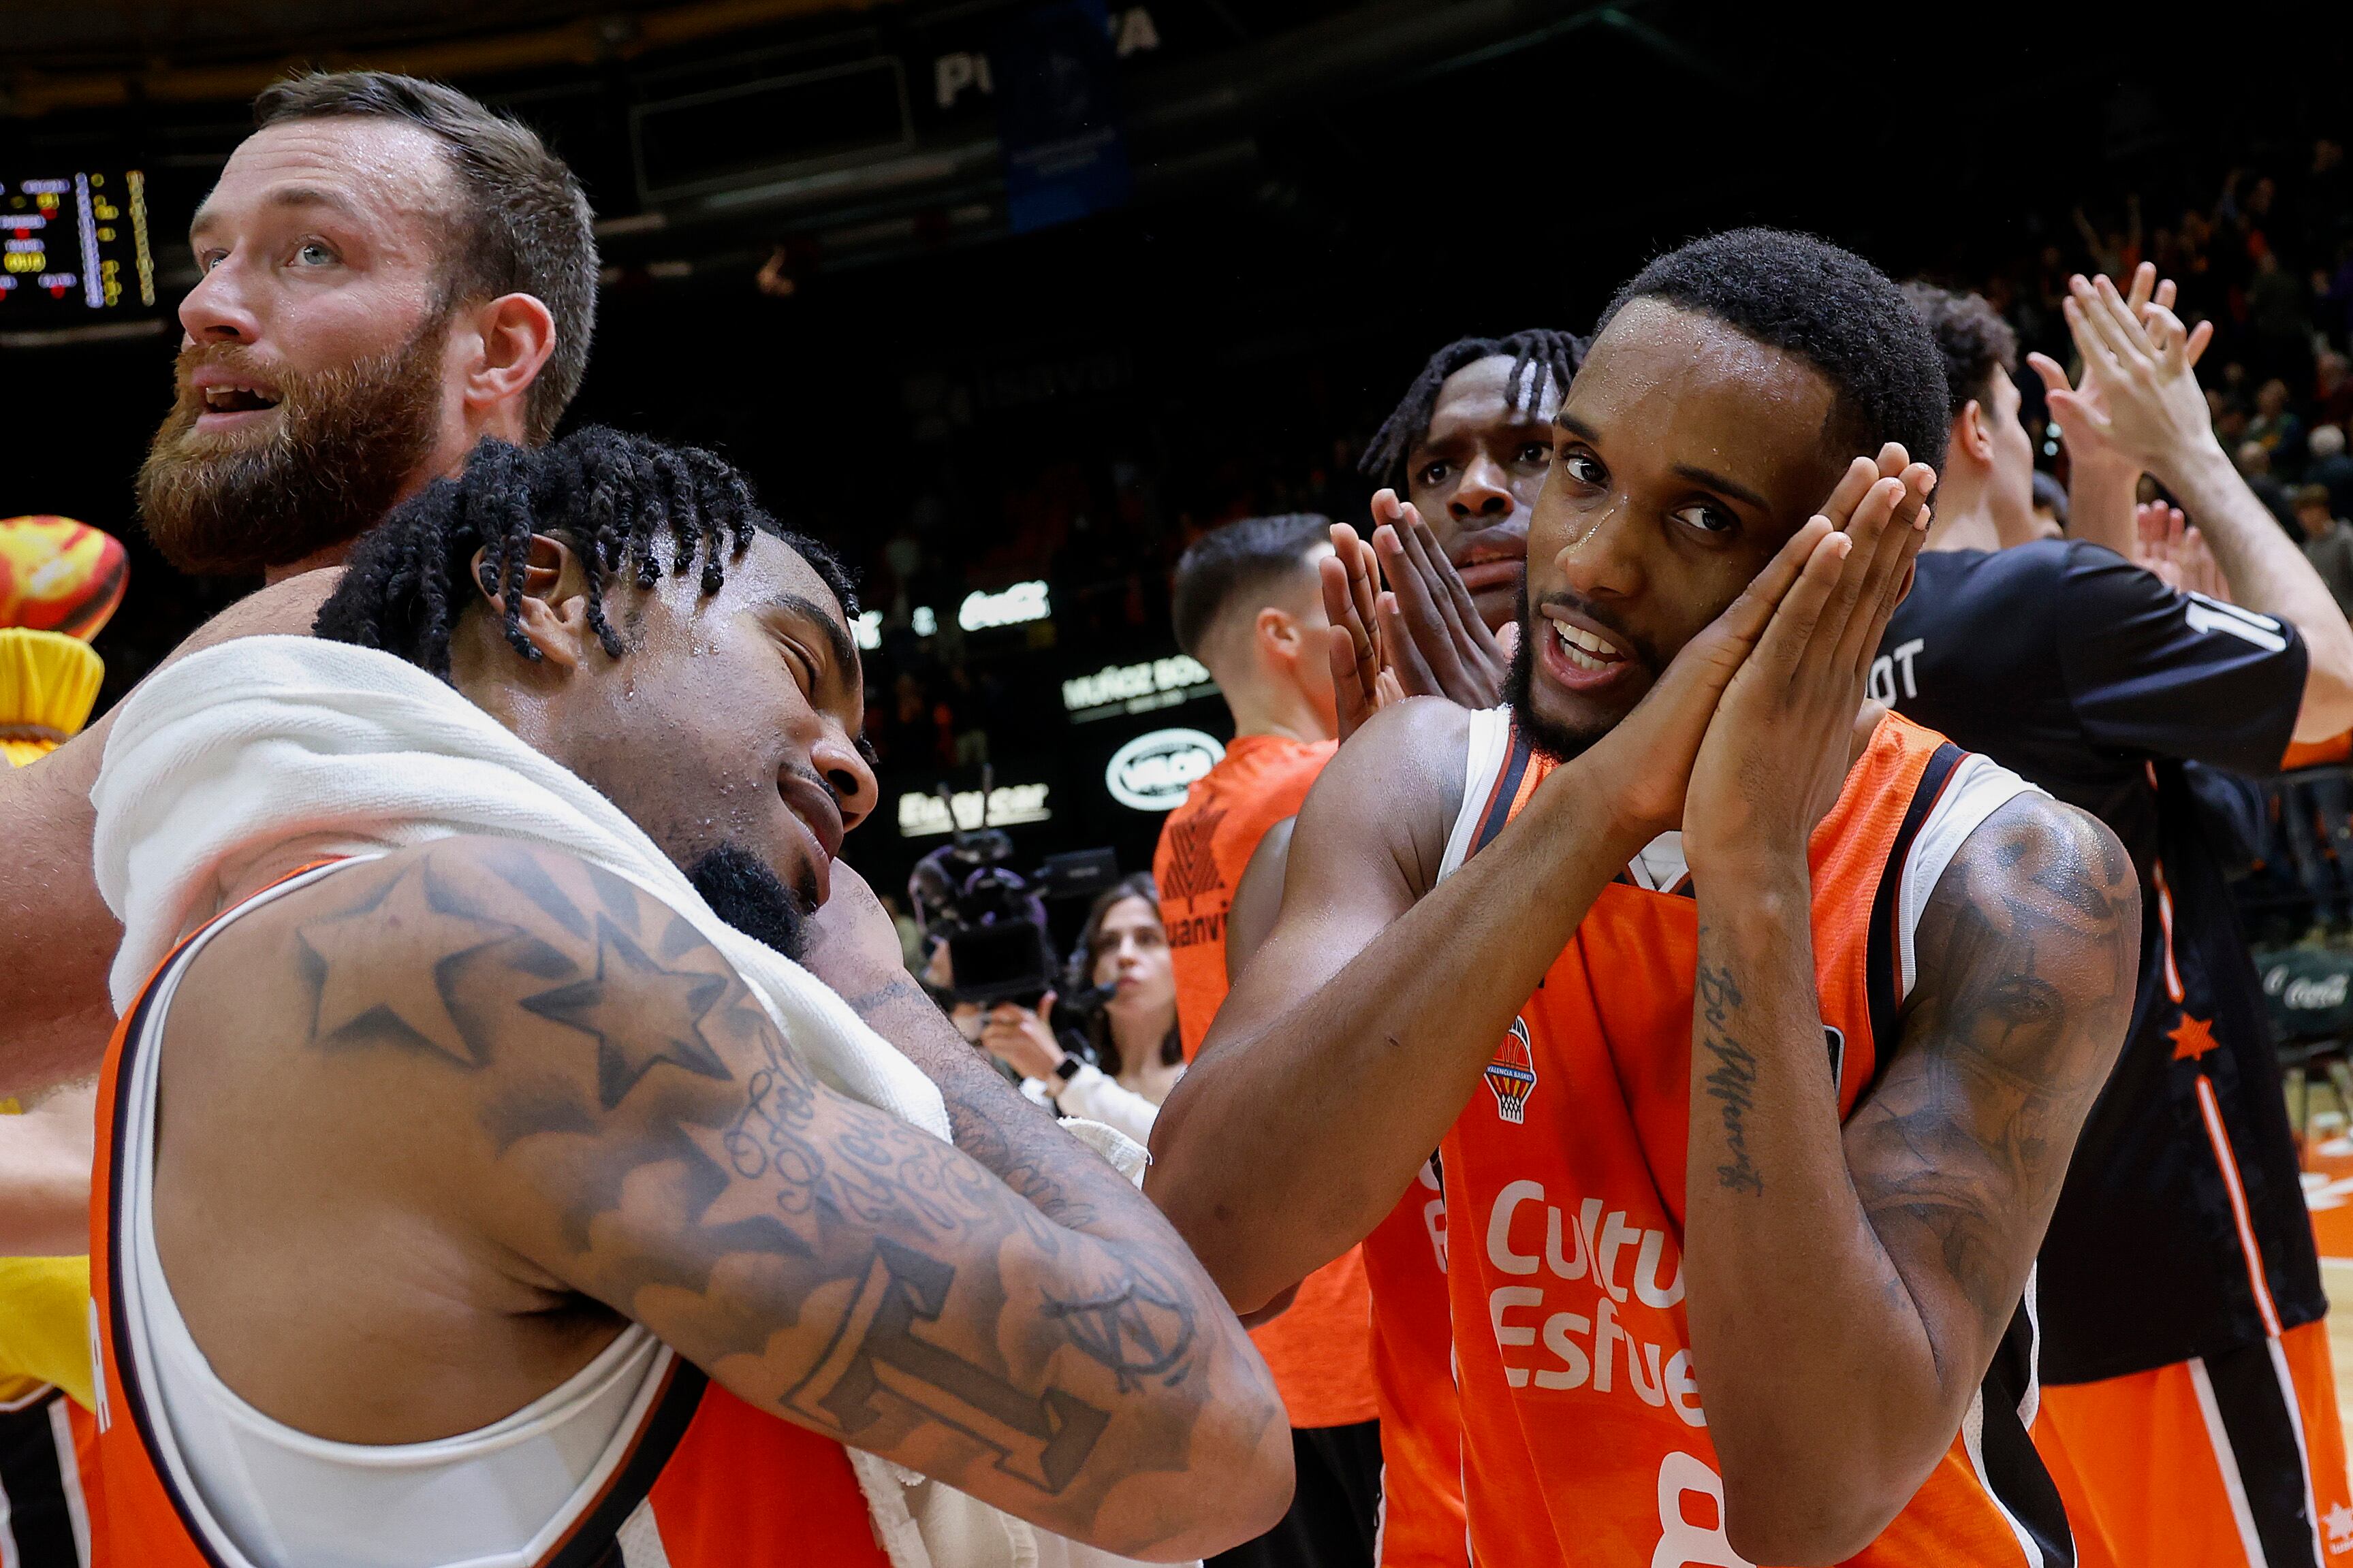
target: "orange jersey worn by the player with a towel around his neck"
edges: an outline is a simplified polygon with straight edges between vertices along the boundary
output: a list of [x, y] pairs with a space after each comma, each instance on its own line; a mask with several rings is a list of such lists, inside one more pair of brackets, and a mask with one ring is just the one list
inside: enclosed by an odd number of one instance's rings
[[[318, 867], [294, 877], [311, 870]], [[139, 1335], [129, 1331], [122, 1293], [129, 1269], [125, 1150], [132, 1143], [122, 1086], [139, 1053], [160, 1044], [162, 1020], [151, 1018], [151, 999], [193, 940], [148, 976], [99, 1074], [94, 1171], [106, 1180], [92, 1182], [89, 1199], [99, 1408], [82, 1467], [96, 1568], [245, 1568], [249, 1561], [191, 1497], [176, 1446], [160, 1441], [165, 1413], [132, 1352]], [[840, 1443], [744, 1403], [675, 1352], [661, 1356], [668, 1363], [664, 1387], [647, 1401], [626, 1453], [536, 1568], [887, 1568]]]

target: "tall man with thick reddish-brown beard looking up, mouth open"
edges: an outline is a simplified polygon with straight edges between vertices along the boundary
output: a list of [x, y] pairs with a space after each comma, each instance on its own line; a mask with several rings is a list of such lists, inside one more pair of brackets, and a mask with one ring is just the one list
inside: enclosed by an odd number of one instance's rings
[[[579, 179], [461, 92], [374, 71], [254, 99], [198, 207], [176, 400], [139, 470], [184, 571], [261, 592], [181, 651], [308, 632], [344, 552], [485, 437], [546, 442], [588, 364], [595, 235]], [[96, 1067], [120, 940], [89, 870], [108, 722], [0, 778], [0, 1093]]]

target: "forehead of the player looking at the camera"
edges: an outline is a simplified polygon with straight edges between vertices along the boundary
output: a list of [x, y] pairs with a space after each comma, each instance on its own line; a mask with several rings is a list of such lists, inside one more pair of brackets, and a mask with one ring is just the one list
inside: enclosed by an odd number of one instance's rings
[[1631, 461], [1704, 468], [1802, 520], [1854, 454], [1833, 454], [1828, 376], [1737, 327], [1659, 299], [1626, 303], [1593, 339], [1562, 421], [1595, 430]]

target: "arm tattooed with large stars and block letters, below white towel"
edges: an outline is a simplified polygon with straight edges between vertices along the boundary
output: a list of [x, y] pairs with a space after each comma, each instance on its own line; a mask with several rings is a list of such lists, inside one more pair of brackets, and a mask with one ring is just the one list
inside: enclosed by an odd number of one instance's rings
[[835, 1095], [687, 922], [560, 851], [447, 839], [315, 898], [315, 1039], [431, 1067], [416, 1114], [475, 1128], [440, 1180], [489, 1246], [748, 1403], [1073, 1540], [1191, 1559], [1282, 1512], [1266, 1366], [1101, 1161], [998, 1150], [1099, 1208], [1040, 1204]]

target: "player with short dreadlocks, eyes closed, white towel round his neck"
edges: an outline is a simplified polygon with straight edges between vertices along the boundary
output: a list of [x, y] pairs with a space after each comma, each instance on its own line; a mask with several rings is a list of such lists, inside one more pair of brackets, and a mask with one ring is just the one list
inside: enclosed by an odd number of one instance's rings
[[[101, 837], [240, 827], [101, 1084], [120, 1561], [885, 1568], [875, 1519], [899, 1556], [925, 1509], [849, 1448], [1120, 1554], [1282, 1514], [1282, 1403], [1217, 1286], [838, 860], [875, 804], [849, 607], [732, 468], [591, 428], [398, 508], [318, 642], [132, 698]], [[275, 877], [320, 837], [384, 853]], [[656, 856], [854, 997], [953, 1145]]]

